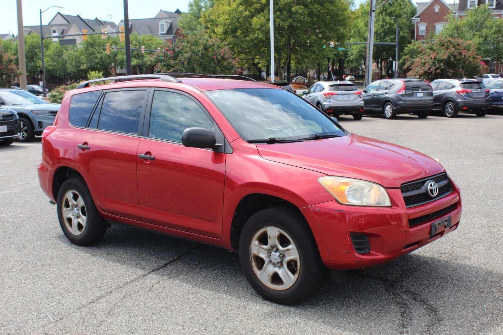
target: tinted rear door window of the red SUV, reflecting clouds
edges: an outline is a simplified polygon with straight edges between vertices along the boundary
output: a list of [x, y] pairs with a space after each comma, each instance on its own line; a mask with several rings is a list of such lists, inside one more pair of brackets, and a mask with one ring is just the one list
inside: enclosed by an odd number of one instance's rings
[[101, 106], [98, 129], [138, 134], [145, 95], [145, 90], [106, 93]]

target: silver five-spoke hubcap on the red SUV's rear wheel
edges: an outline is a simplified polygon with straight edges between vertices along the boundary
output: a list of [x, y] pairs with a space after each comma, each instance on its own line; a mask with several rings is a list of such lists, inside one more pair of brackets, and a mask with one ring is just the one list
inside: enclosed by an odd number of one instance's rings
[[63, 195], [61, 208], [63, 220], [68, 231], [73, 235], [80, 235], [86, 228], [86, 204], [75, 190], [68, 190]]

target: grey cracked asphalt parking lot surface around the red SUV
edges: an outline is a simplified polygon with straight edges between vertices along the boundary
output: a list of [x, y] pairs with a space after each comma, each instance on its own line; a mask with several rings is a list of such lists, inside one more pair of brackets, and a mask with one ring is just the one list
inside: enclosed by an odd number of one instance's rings
[[226, 250], [126, 226], [72, 245], [39, 187], [40, 139], [15, 143], [0, 147], [0, 333], [503, 334], [503, 116], [340, 122], [439, 158], [462, 191], [459, 228], [283, 306]]

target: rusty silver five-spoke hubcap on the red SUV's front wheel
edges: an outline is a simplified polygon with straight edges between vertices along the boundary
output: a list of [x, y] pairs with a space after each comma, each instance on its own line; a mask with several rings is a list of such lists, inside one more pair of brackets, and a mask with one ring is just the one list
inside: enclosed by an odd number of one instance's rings
[[257, 278], [273, 290], [286, 290], [299, 276], [297, 247], [277, 227], [264, 227], [255, 233], [250, 242], [250, 263]]

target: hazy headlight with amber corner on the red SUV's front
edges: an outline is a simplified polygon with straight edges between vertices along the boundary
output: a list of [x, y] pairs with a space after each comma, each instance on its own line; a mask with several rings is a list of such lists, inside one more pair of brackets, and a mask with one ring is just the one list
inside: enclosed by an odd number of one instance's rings
[[370, 181], [334, 176], [321, 177], [318, 178], [318, 181], [342, 204], [391, 206], [388, 192], [386, 192], [384, 187]]

